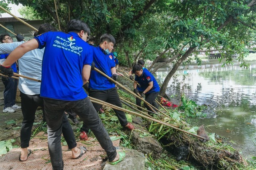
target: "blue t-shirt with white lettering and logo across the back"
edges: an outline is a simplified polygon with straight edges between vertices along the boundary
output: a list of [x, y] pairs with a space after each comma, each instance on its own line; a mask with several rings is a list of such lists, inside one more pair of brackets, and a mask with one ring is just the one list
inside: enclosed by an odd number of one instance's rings
[[82, 70], [92, 63], [92, 47], [75, 32], [46, 32], [35, 37], [44, 49], [40, 96], [75, 101], [87, 97]]

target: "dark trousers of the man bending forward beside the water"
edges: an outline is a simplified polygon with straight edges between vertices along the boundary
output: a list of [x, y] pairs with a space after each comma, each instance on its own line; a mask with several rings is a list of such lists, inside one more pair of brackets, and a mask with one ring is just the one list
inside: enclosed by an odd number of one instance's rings
[[[139, 92], [139, 94], [141, 94], [141, 93], [142, 93], [142, 91]], [[156, 97], [158, 96], [158, 94], [159, 94], [159, 92], [145, 94], [145, 100], [146, 100], [148, 103], [152, 104], [152, 105], [153, 105], [155, 108], [157, 108], [157, 109], [158, 109], [158, 104], [156, 103], [155, 99], [156, 99]], [[137, 104], [137, 106], [141, 106], [141, 99], [136, 98], [136, 104]], [[144, 106], [145, 106], [145, 108], [147, 108], [147, 110], [152, 111], [152, 110], [150, 109], [150, 107], [149, 107], [146, 103], [144, 103]], [[138, 108], [138, 109], [141, 110], [141, 108]], [[148, 112], [148, 114], [151, 115], [152, 113]]]

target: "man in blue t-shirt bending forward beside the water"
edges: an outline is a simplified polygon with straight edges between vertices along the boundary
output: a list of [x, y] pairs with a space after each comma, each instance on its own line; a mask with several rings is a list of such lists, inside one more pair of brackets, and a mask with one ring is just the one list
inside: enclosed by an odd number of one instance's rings
[[[158, 108], [155, 98], [158, 96], [160, 88], [155, 77], [146, 68], [143, 69], [141, 64], [135, 64], [133, 66], [133, 73], [135, 74], [133, 83], [134, 93], [141, 94], [141, 97], [145, 95], [145, 100], [155, 108]], [[139, 83], [141, 87], [137, 87], [137, 83]], [[141, 106], [141, 100], [139, 98], [136, 98], [136, 104]], [[146, 103], [144, 103], [144, 106], [147, 110], [151, 111]], [[150, 114], [150, 112], [148, 112], [148, 114]]]

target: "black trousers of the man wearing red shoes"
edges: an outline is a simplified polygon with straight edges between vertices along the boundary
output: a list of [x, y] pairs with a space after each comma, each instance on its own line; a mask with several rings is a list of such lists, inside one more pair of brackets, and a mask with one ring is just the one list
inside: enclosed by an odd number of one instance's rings
[[[104, 102], [108, 102], [110, 104], [114, 104], [115, 106], [122, 107], [119, 95], [117, 93], [116, 88], [108, 89], [108, 90], [92, 90], [89, 89], [89, 96], [93, 98], [97, 98], [99, 100], [102, 100]], [[95, 110], [98, 112], [102, 106], [102, 104], [96, 104], [92, 103]], [[127, 119], [125, 116], [125, 113], [120, 110], [115, 110], [115, 114], [120, 122], [120, 124], [124, 127], [127, 125]], [[83, 123], [83, 127], [81, 127], [80, 131], [89, 132], [89, 127], [86, 125], [86, 123]]]

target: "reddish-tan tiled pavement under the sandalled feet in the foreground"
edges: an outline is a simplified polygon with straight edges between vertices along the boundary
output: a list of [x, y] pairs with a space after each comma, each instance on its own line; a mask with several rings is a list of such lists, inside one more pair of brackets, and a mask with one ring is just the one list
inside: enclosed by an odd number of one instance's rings
[[[120, 140], [113, 142], [115, 147], [118, 147]], [[106, 152], [94, 138], [89, 138], [85, 144], [77, 142], [77, 147], [85, 146], [87, 153], [80, 159], [72, 159], [72, 152], [67, 146], [62, 145], [62, 154], [64, 161], [64, 170], [102, 170], [106, 163]], [[0, 169], [11, 170], [50, 170], [50, 155], [48, 152], [47, 134], [40, 132], [30, 141], [29, 149], [32, 150], [27, 161], [19, 162], [20, 148], [15, 148], [9, 151], [6, 155], [0, 158]]]

